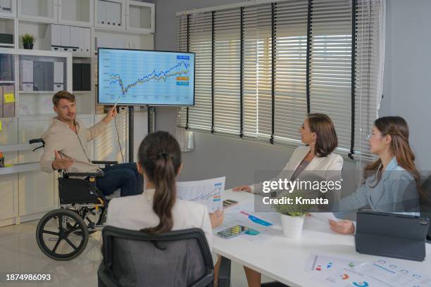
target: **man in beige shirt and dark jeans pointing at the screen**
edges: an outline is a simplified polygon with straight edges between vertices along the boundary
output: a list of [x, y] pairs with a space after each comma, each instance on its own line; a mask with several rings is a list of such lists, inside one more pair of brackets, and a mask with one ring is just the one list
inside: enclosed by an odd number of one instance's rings
[[[66, 170], [71, 173], [104, 172], [96, 177], [97, 188], [105, 196], [121, 189], [121, 196], [134, 196], [143, 191], [143, 177], [135, 162], [106, 165], [100, 169], [98, 162], [89, 159], [87, 141], [92, 141], [104, 132], [106, 125], [117, 115], [116, 107], [108, 110], [103, 120], [88, 129], [76, 119], [76, 100], [68, 91], [58, 91], [52, 98], [57, 117], [42, 135], [45, 141], [40, 166], [45, 172]], [[105, 162], [99, 162], [105, 163]], [[112, 162], [111, 162], [112, 163]]]

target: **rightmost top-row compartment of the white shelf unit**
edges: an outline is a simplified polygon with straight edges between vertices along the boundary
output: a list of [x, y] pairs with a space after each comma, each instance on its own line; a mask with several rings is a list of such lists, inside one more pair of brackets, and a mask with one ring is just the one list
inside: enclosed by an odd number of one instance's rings
[[154, 33], [155, 7], [152, 3], [129, 0], [126, 11], [127, 30]]

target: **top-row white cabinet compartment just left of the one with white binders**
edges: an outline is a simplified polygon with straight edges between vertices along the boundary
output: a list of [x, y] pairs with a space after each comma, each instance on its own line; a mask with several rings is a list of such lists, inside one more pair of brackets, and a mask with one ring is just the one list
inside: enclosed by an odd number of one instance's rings
[[91, 27], [94, 23], [94, 0], [58, 0], [58, 22]]

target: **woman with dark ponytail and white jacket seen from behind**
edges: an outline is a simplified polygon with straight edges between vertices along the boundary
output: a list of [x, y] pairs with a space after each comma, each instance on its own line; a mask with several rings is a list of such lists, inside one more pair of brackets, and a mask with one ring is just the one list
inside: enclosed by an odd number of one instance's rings
[[147, 135], [139, 146], [138, 158], [138, 171], [144, 174], [146, 183], [145, 192], [113, 198], [109, 202], [106, 225], [145, 229], [150, 234], [195, 227], [204, 231], [211, 248], [211, 227], [222, 224], [224, 214], [220, 211], [208, 215], [205, 205], [177, 199], [175, 179], [182, 162], [180, 145], [175, 138], [168, 132]]

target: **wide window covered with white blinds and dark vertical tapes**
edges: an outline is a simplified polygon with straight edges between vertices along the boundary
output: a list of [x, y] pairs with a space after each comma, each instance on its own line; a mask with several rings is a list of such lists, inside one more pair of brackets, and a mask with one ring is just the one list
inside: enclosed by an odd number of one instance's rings
[[297, 145], [307, 113], [326, 113], [338, 151], [370, 157], [384, 12], [383, 0], [287, 0], [177, 13], [178, 49], [196, 53], [196, 106], [177, 126]]

